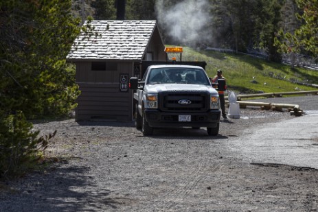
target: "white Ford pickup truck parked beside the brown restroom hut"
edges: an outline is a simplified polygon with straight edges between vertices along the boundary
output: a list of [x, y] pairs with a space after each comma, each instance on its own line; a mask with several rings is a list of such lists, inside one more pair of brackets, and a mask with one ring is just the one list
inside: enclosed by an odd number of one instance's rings
[[207, 128], [217, 135], [220, 126], [218, 92], [202, 67], [181, 64], [150, 65], [142, 80], [130, 78], [136, 128], [151, 135], [154, 128]]

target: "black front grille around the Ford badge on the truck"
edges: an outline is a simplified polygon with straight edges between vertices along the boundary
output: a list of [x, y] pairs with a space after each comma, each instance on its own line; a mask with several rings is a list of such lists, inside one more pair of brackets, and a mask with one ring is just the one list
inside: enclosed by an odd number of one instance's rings
[[[162, 93], [160, 96], [160, 109], [166, 112], [202, 112], [209, 109], [208, 93]], [[181, 105], [179, 100], [187, 99], [191, 104]]]

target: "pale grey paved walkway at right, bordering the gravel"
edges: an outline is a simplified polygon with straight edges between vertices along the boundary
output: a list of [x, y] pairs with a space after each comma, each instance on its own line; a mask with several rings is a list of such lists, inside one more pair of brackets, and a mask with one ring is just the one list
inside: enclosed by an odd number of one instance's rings
[[250, 163], [318, 169], [318, 113], [265, 124], [230, 142], [231, 148]]

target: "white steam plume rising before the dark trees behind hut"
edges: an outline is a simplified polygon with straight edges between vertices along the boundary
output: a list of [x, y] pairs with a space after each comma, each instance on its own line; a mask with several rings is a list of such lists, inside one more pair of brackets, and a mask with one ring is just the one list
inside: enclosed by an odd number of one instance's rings
[[172, 43], [194, 46], [212, 39], [208, 0], [183, 0], [170, 8], [164, 2], [157, 0], [155, 10], [159, 25]]

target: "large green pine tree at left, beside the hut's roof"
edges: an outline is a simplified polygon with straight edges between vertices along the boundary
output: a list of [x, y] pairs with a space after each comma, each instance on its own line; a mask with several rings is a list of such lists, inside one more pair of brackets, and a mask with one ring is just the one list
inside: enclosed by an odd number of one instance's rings
[[27, 118], [64, 115], [78, 95], [65, 60], [80, 30], [71, 1], [5, 1], [0, 11], [0, 107]]

